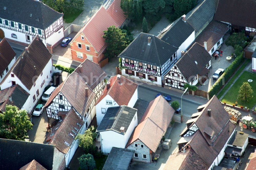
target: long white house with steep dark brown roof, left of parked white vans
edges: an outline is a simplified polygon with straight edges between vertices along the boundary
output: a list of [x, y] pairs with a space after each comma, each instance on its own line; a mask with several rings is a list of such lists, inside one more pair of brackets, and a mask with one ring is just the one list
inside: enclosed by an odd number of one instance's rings
[[30, 94], [32, 110], [50, 83], [52, 74], [52, 55], [36, 36], [7, 72], [0, 83], [0, 88], [3, 90], [19, 84]]

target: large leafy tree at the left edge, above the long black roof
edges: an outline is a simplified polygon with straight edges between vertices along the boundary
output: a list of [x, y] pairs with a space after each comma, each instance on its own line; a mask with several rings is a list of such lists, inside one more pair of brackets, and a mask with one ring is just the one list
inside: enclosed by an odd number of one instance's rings
[[0, 114], [0, 138], [24, 141], [28, 138], [27, 131], [32, 127], [26, 110], [6, 105], [5, 112]]

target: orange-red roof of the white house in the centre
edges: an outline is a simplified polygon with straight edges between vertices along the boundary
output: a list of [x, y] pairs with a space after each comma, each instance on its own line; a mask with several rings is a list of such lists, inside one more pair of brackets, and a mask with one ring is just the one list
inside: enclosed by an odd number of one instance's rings
[[[120, 75], [119, 75], [120, 76]], [[135, 93], [138, 84], [128, 80], [127, 78], [120, 76], [121, 84], [119, 83], [118, 75], [110, 77], [110, 88], [107, 90], [107, 86], [103, 89], [100, 98], [96, 102], [97, 105], [106, 95], [110, 95], [111, 98], [119, 105], [128, 105], [133, 94]]]

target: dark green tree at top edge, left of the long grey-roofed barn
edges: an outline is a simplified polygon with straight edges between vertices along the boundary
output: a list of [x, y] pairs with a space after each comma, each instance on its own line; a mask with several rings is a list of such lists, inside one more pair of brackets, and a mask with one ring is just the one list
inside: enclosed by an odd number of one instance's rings
[[175, 15], [180, 17], [187, 14], [197, 4], [197, 0], [174, 0], [173, 8]]

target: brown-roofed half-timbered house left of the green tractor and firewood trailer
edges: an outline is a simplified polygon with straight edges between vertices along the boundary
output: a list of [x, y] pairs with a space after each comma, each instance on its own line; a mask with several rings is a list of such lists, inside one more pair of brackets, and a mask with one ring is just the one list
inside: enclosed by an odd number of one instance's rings
[[[186, 122], [187, 126], [180, 134], [181, 138], [177, 142], [179, 152], [185, 153], [188, 149], [193, 150], [194, 155], [199, 158], [198, 161], [204, 163], [202, 164], [204, 167], [200, 169], [210, 170], [214, 166], [218, 166], [225, 155], [224, 151], [230, 138], [236, 131], [236, 126], [229, 119], [230, 115], [227, 114], [218, 98], [212, 97], [204, 105], [201, 112]], [[172, 159], [173, 157], [170, 156], [166, 163], [167, 166], [172, 163]], [[191, 160], [184, 159], [179, 164], [189, 161]], [[197, 164], [197, 166], [200, 165]]]

